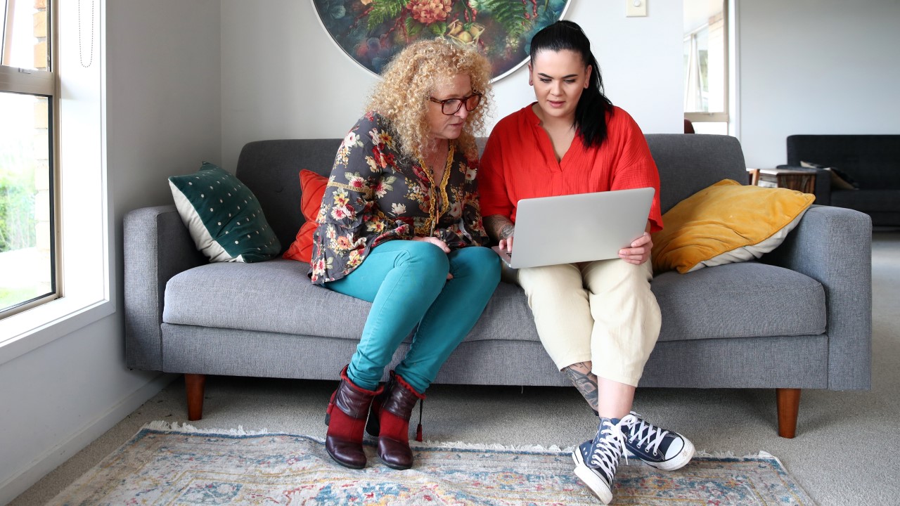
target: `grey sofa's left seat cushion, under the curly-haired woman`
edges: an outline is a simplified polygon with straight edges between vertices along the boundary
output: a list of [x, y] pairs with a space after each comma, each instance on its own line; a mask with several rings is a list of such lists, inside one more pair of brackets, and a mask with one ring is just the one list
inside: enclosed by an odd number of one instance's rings
[[[194, 267], [166, 284], [163, 321], [359, 339], [372, 304], [312, 285], [309, 270], [309, 264], [282, 258]], [[470, 338], [537, 340], [522, 289], [505, 283], [497, 288], [475, 329]]]

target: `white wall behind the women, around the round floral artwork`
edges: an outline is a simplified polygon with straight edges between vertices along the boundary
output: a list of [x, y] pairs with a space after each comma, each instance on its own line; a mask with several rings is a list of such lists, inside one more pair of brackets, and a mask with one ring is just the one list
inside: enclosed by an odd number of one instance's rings
[[[608, 96], [647, 132], [678, 132], [681, 2], [626, 18], [625, 2], [573, 0], [564, 18], [588, 33]], [[344, 137], [376, 77], [345, 55], [310, 0], [222, 0], [222, 163], [251, 140]], [[534, 100], [527, 69], [495, 83], [494, 122]], [[491, 127], [493, 122], [491, 122]]]

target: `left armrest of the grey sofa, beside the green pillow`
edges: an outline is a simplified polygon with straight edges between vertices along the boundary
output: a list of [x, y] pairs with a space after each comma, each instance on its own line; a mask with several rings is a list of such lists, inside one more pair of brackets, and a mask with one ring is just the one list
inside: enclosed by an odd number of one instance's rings
[[129, 367], [163, 370], [163, 297], [176, 274], [206, 263], [175, 205], [144, 207], [125, 215], [125, 361]]

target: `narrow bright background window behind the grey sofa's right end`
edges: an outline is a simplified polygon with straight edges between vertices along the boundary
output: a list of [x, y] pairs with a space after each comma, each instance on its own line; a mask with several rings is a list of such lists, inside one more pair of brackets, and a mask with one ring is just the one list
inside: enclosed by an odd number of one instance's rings
[[698, 133], [728, 133], [728, 9], [684, 0], [684, 117]]

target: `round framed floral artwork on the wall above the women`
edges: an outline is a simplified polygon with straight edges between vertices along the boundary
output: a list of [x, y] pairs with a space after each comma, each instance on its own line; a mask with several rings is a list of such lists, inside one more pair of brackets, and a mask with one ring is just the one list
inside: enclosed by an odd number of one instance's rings
[[445, 37], [491, 61], [492, 81], [525, 64], [531, 37], [572, 0], [311, 0], [322, 28], [375, 75], [407, 44]]

